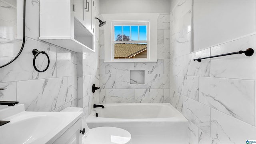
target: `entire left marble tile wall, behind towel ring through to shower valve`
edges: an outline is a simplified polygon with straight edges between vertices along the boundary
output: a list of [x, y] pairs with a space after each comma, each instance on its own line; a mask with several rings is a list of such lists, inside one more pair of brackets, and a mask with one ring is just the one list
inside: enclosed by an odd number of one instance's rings
[[[26, 0], [26, 42], [21, 55], [0, 69], [1, 100], [19, 101], [28, 111], [60, 111], [68, 106], [82, 107], [86, 116], [99, 92], [92, 94], [92, 84], [99, 86], [99, 28], [95, 28], [95, 53], [76, 54], [39, 40], [39, 0]], [[99, 16], [98, 10], [95, 10]], [[96, 24], [97, 26], [97, 24]], [[45, 72], [32, 64], [32, 50], [44, 50], [50, 57]], [[46, 58], [38, 56], [36, 66], [45, 68]], [[82, 82], [82, 85], [79, 83]], [[82, 95], [81, 95], [82, 94]]]

